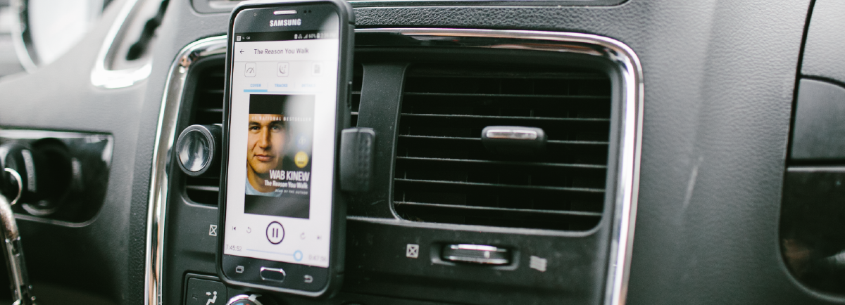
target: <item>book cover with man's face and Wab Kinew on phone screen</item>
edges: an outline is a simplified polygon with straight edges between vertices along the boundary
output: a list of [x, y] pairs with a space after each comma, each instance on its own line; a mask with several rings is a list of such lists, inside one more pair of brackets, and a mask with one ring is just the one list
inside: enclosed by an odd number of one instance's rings
[[244, 212], [308, 218], [313, 95], [249, 96]]

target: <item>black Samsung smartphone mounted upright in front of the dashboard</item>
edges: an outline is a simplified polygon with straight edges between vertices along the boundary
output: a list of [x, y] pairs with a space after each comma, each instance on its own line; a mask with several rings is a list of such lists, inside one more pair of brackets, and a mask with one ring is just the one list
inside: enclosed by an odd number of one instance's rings
[[319, 297], [341, 286], [354, 19], [346, 1], [247, 1], [226, 57], [217, 273]]

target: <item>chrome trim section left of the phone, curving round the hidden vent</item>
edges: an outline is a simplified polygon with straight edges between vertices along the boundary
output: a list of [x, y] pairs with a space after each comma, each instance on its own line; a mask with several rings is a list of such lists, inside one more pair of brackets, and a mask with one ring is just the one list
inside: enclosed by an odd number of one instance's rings
[[167, 73], [161, 98], [158, 127], [155, 130], [153, 163], [150, 171], [150, 201], [147, 206], [146, 257], [144, 260], [144, 304], [161, 304], [161, 277], [164, 262], [165, 217], [167, 211], [167, 162], [176, 141], [176, 127], [185, 77], [192, 62], [204, 56], [226, 52], [226, 36], [197, 40], [179, 51]]

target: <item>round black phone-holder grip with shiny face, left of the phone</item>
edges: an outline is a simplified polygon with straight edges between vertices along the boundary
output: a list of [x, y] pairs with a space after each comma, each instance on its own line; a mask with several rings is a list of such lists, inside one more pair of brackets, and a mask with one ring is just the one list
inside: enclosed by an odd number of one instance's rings
[[192, 125], [185, 128], [176, 142], [176, 161], [188, 176], [220, 174], [222, 128], [218, 125]]

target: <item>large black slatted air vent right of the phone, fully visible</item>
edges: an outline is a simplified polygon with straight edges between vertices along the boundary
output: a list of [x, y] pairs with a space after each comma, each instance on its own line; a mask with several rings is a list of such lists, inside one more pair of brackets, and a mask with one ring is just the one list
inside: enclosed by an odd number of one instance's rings
[[[412, 68], [401, 108], [395, 211], [417, 222], [595, 227], [604, 206], [610, 90], [604, 72]], [[485, 126], [540, 127], [548, 152], [488, 153]]]

